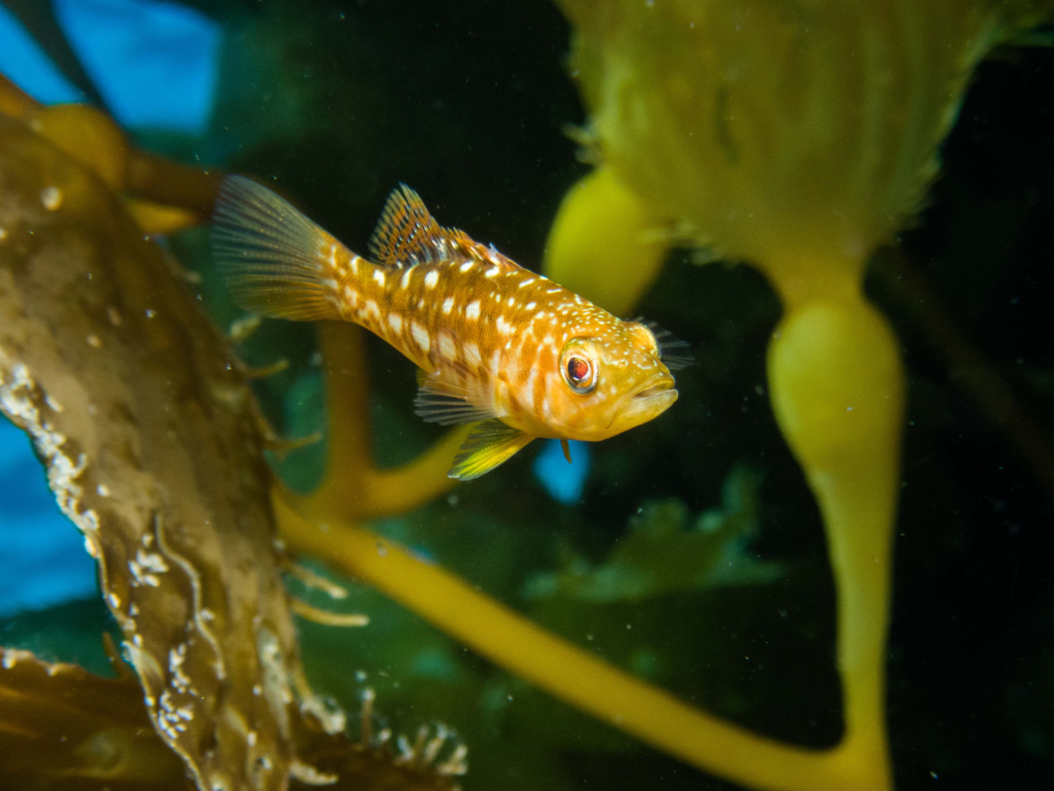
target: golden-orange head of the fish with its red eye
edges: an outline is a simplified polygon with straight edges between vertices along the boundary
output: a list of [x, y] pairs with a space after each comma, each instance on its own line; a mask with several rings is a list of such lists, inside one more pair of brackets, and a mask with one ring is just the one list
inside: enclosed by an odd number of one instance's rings
[[638, 322], [573, 334], [555, 355], [547, 393], [559, 437], [596, 442], [647, 423], [677, 401], [659, 344]]

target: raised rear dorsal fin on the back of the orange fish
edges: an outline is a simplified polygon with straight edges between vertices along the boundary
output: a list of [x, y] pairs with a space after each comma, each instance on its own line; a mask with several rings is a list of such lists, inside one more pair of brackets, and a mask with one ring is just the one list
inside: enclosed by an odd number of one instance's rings
[[473, 245], [463, 231], [443, 228], [416, 192], [401, 184], [385, 204], [370, 238], [370, 255], [380, 266], [412, 267], [443, 259], [464, 259]]

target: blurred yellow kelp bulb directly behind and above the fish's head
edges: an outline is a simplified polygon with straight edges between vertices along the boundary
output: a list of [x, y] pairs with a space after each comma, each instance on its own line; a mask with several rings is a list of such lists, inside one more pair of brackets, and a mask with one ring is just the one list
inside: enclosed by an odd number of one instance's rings
[[629, 319], [669, 253], [668, 225], [651, 216], [610, 170], [598, 168], [564, 196], [545, 246], [545, 273]]

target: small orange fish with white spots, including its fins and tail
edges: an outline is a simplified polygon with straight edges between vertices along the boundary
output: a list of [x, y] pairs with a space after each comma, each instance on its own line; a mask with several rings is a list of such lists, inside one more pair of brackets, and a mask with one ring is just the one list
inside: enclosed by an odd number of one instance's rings
[[475, 423], [449, 475], [477, 478], [536, 437], [598, 441], [677, 401], [657, 340], [552, 281], [440, 227], [413, 190], [388, 198], [362, 258], [265, 187], [223, 180], [215, 259], [247, 310], [353, 322], [419, 368], [426, 421]]

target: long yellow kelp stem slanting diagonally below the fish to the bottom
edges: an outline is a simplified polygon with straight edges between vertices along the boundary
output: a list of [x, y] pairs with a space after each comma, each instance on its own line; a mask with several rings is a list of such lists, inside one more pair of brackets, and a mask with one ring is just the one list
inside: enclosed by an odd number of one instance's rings
[[372, 530], [274, 510], [288, 547], [374, 585], [481, 655], [554, 697], [701, 769], [786, 791], [881, 789], [840, 752], [781, 745], [706, 714], [598, 659], [509, 610], [470, 582]]

